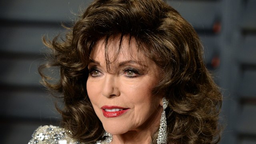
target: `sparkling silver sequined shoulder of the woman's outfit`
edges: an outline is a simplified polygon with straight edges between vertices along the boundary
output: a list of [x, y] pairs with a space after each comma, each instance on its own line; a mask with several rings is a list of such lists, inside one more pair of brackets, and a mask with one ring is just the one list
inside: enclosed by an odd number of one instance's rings
[[83, 144], [68, 134], [71, 132], [58, 126], [40, 126], [34, 131], [28, 144]]

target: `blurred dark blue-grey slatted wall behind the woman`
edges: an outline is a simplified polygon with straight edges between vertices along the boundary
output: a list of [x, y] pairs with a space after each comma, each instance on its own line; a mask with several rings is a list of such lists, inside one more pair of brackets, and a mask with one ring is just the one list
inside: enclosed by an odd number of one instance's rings
[[[92, 0], [0, 1], [0, 143], [26, 144], [60, 115], [37, 67], [53, 38]], [[256, 0], [167, 0], [194, 26], [205, 63], [222, 88], [221, 144], [256, 144]], [[82, 7], [81, 7], [82, 5]], [[58, 100], [59, 101], [59, 100]]]

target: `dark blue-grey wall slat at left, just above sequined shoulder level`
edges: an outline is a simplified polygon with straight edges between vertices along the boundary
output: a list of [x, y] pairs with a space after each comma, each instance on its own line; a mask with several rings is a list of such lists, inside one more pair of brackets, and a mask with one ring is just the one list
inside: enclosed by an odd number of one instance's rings
[[[11, 91], [9, 91], [11, 90]], [[59, 118], [54, 102], [61, 102], [42, 90], [0, 91], [0, 114], [4, 117], [46, 120]]]

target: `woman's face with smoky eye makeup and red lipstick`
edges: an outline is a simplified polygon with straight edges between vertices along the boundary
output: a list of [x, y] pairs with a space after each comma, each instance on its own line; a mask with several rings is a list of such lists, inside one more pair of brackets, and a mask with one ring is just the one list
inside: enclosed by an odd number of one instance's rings
[[[104, 40], [90, 54], [90, 74], [86, 88], [94, 111], [104, 129], [113, 134], [129, 131], [155, 131], [160, 124], [162, 97], [152, 94], [160, 80], [160, 68], [137, 52], [134, 40], [125, 37], [118, 57], [119, 39], [110, 40], [106, 69]], [[128, 50], [129, 49], [129, 50]]]

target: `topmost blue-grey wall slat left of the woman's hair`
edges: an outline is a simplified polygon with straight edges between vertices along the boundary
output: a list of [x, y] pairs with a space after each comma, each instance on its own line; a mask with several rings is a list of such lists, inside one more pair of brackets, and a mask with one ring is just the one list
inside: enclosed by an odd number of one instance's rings
[[69, 21], [80, 4], [92, 0], [1, 0], [0, 18], [36, 21]]

